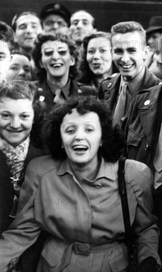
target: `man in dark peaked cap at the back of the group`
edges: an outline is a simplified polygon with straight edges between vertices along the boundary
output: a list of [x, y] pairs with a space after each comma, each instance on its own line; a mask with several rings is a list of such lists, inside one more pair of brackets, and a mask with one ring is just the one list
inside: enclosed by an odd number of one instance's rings
[[70, 11], [61, 3], [47, 4], [40, 12], [44, 32], [61, 30], [66, 34], [70, 26], [70, 17]]

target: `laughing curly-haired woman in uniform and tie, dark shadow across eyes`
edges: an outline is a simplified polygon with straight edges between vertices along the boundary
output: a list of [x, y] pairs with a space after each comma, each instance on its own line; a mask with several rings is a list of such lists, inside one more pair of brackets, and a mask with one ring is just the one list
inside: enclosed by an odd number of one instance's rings
[[94, 94], [93, 88], [82, 87], [75, 81], [78, 55], [75, 43], [68, 36], [61, 33], [38, 35], [33, 52], [39, 78], [36, 84], [48, 109], [64, 103], [72, 95]]

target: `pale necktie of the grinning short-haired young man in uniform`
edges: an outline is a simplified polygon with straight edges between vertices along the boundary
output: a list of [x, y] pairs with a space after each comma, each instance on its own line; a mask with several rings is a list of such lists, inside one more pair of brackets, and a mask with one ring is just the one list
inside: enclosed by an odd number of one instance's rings
[[126, 108], [126, 89], [127, 89], [127, 82], [122, 82], [122, 91], [119, 95], [118, 103], [114, 112], [113, 116], [113, 124], [121, 124], [121, 118], [125, 114]]

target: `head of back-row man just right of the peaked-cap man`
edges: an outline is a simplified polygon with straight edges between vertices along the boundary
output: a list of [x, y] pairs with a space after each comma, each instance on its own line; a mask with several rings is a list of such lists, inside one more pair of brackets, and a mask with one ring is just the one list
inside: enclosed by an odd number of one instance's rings
[[82, 43], [85, 36], [94, 32], [93, 28], [93, 17], [85, 12], [79, 11], [76, 12], [71, 17], [71, 37], [76, 43]]

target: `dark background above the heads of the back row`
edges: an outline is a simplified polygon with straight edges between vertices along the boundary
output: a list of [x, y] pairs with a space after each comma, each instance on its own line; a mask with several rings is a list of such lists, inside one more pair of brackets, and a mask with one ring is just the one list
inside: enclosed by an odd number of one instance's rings
[[162, 0], [0, 0], [0, 19], [11, 25], [16, 13], [31, 10], [40, 14], [41, 8], [52, 2], [65, 4], [72, 13], [85, 9], [96, 18], [98, 30], [103, 31], [130, 20], [141, 23], [146, 29], [152, 16], [162, 15]]

